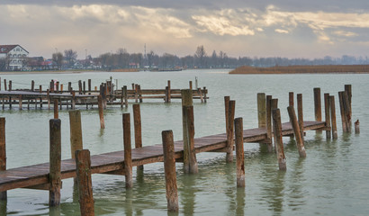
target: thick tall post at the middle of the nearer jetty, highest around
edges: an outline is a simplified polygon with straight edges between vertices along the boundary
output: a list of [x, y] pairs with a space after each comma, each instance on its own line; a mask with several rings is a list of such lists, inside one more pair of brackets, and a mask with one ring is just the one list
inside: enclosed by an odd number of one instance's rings
[[194, 152], [193, 94], [191, 89], [181, 90], [182, 125], [184, 137], [184, 173], [197, 173], [197, 160]]

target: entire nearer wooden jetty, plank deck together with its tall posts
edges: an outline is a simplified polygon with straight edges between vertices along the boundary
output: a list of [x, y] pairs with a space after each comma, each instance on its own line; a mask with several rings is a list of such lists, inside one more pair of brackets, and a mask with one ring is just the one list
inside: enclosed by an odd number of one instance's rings
[[[0, 118], [0, 200], [6, 199], [6, 191], [15, 188], [49, 190], [49, 205], [60, 203], [61, 180], [76, 177], [82, 215], [93, 215], [92, 174], [125, 175], [127, 188], [132, 187], [132, 167], [142, 169], [144, 165], [163, 162], [166, 174], [166, 198], [168, 211], [178, 211], [175, 162], [184, 163], [184, 173], [197, 173], [196, 154], [202, 152], [224, 152], [226, 161], [233, 161], [236, 150], [237, 185], [245, 186], [244, 143], [259, 142], [268, 146], [268, 151], [277, 155], [280, 170], [286, 169], [283, 136], [294, 136], [300, 157], [306, 157], [303, 136], [307, 130], [326, 130], [327, 139], [338, 139], [334, 95], [324, 94], [325, 120], [322, 121], [320, 88], [314, 88], [315, 121], [304, 121], [302, 94], [297, 94], [297, 114], [293, 93], [289, 93], [287, 108], [290, 121], [281, 122], [278, 99], [264, 93], [257, 94], [258, 127], [243, 129], [242, 118], [235, 119], [236, 102], [224, 97], [226, 133], [194, 138], [193, 94], [182, 90], [183, 139], [173, 141], [171, 130], [162, 132], [163, 143], [142, 146], [139, 104], [133, 105], [135, 148], [130, 143], [130, 113], [123, 113], [124, 150], [89, 155], [83, 149], [80, 111], [69, 111], [71, 152], [70, 159], [61, 160], [60, 120], [49, 121], [49, 163], [6, 169], [5, 120]], [[351, 131], [351, 85], [339, 92], [339, 107], [343, 130]], [[90, 194], [86, 197], [85, 194]]]

